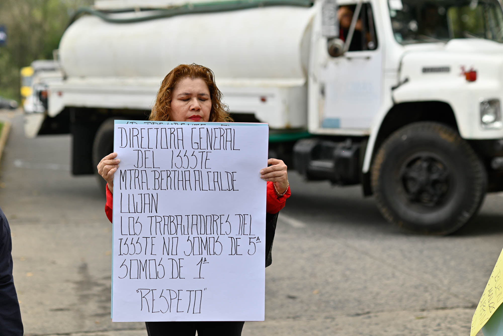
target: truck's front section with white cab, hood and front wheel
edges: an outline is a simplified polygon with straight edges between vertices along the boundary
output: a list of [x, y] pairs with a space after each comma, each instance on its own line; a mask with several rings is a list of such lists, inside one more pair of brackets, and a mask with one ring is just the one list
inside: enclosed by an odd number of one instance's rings
[[[455, 231], [502, 187], [501, 4], [338, 5], [338, 36], [323, 32], [323, 16], [313, 23], [308, 130], [317, 137], [295, 145], [296, 169], [362, 183], [408, 230]], [[331, 54], [337, 38], [342, 51]]]

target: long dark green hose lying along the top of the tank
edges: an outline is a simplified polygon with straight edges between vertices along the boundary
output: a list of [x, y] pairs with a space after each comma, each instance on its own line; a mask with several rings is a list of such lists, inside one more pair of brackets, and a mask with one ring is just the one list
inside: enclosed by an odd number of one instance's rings
[[[138, 17], [138, 18], [111, 18], [107, 12], [93, 10], [91, 8], [80, 8], [70, 19], [71, 25], [80, 15], [91, 14], [95, 15], [102, 20], [110, 23], [133, 23], [142, 22], [155, 19], [169, 18], [178, 15], [186, 14], [203, 14], [203, 13], [215, 13], [215, 12], [227, 12], [227, 11], [237, 11], [249, 8], [258, 7], [271, 7], [271, 6], [297, 6], [297, 7], [311, 7], [313, 5], [313, 0], [235, 0], [235, 1], [221, 1], [214, 3], [195, 3], [195, 4], [185, 4], [181, 6], [174, 6], [167, 9], [147, 9], [140, 8], [140, 11], [155, 11], [154, 14]], [[112, 11], [108, 13], [123, 13], [123, 12], [134, 12], [138, 9], [120, 10]]]

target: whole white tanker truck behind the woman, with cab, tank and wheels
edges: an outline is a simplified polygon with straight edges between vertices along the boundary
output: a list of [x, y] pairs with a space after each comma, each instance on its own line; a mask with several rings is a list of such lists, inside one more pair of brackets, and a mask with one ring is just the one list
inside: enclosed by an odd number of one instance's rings
[[195, 62], [236, 121], [269, 123], [272, 155], [308, 180], [361, 184], [407, 230], [453, 232], [503, 190], [498, 0], [102, 0], [81, 12], [47, 111], [26, 114], [32, 136], [72, 134], [75, 175], [112, 152], [114, 119], [145, 119], [163, 76]]

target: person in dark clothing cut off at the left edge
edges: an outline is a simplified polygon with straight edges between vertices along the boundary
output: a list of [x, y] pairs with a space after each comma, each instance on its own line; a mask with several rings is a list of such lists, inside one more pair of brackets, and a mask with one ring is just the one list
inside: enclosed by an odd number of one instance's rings
[[0, 209], [0, 334], [23, 336], [23, 322], [12, 276], [11, 228]]

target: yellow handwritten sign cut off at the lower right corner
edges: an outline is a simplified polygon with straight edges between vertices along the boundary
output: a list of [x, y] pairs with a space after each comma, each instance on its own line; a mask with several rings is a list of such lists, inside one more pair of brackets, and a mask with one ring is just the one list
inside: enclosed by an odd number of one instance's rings
[[503, 250], [499, 254], [496, 266], [492, 270], [491, 277], [473, 314], [470, 336], [475, 336], [480, 331], [503, 302], [503, 274], [501, 271], [503, 271]]

